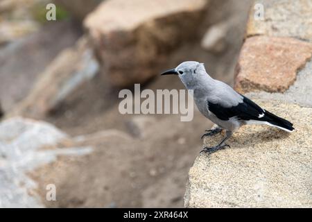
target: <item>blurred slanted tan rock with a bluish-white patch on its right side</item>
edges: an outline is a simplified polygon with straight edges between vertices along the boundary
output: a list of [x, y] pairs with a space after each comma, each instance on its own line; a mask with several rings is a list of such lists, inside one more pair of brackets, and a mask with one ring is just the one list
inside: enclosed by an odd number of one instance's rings
[[46, 116], [56, 110], [74, 89], [92, 79], [98, 73], [98, 68], [92, 49], [82, 37], [76, 46], [64, 49], [51, 62], [31, 93], [11, 114], [35, 118]]

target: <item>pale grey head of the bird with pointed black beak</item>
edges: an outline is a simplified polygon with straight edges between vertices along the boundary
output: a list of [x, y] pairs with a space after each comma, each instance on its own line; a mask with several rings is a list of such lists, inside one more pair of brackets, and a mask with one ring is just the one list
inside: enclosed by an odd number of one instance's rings
[[203, 63], [187, 61], [182, 62], [174, 69], [164, 71], [162, 75], [177, 75], [185, 86], [191, 87], [196, 85], [203, 75], [207, 76], [207, 73]]

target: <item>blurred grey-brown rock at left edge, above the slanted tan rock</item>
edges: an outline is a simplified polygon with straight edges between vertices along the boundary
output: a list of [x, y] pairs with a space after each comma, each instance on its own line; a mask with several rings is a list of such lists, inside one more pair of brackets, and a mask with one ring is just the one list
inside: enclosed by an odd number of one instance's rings
[[37, 76], [62, 49], [72, 46], [80, 35], [71, 22], [56, 22], [3, 46], [0, 49], [0, 100], [3, 110], [11, 110], [24, 99]]

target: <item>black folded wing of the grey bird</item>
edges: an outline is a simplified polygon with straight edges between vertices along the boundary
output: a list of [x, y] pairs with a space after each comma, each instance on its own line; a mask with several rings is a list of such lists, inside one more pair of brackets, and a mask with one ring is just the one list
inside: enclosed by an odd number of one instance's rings
[[259, 105], [245, 96], [243, 96], [243, 102], [229, 108], [225, 108], [220, 104], [211, 103], [209, 101], [207, 101], [207, 103], [208, 110], [214, 113], [218, 119], [225, 121], [229, 120], [231, 117], [236, 117], [237, 119], [242, 120], [262, 120], [259, 118], [259, 116], [261, 117], [261, 114], [264, 112], [263, 109], [259, 107]]

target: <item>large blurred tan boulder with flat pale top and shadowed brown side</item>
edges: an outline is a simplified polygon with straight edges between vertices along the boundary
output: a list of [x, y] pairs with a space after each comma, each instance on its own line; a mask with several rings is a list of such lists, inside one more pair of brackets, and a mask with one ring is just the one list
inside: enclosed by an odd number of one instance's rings
[[125, 87], [158, 75], [168, 53], [196, 36], [207, 2], [108, 0], [87, 16], [84, 26], [105, 74]]

